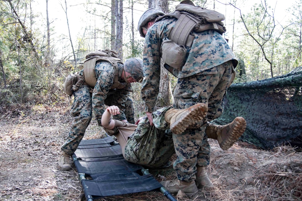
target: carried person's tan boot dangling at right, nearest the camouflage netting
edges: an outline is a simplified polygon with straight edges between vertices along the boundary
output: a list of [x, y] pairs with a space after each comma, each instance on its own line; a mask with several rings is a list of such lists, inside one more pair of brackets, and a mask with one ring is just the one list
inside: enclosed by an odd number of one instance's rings
[[207, 137], [218, 140], [221, 149], [226, 150], [233, 146], [234, 142], [244, 133], [246, 121], [243, 117], [236, 117], [230, 124], [219, 126], [207, 124]]

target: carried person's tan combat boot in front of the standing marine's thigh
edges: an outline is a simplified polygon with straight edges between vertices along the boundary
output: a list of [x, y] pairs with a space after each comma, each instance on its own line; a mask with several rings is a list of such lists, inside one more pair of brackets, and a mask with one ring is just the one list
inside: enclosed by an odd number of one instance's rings
[[165, 113], [165, 121], [170, 124], [174, 134], [181, 134], [189, 126], [201, 121], [207, 115], [207, 106], [198, 103], [187, 109], [169, 109]]

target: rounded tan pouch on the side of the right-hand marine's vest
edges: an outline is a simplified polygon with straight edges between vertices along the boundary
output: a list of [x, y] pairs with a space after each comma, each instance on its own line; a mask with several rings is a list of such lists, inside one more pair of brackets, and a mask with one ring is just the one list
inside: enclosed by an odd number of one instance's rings
[[161, 46], [162, 61], [165, 64], [175, 68], [178, 71], [182, 70], [182, 67], [186, 62], [187, 49], [183, 45], [177, 45], [171, 40], [164, 39]]

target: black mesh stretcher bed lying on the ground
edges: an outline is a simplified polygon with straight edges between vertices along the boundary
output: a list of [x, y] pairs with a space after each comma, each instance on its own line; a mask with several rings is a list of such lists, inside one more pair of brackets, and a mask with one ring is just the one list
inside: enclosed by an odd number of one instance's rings
[[82, 179], [85, 196], [100, 197], [155, 190], [162, 185], [151, 174], [143, 175], [141, 165], [126, 161], [119, 144], [112, 137], [82, 140], [73, 155], [78, 173], [90, 176]]

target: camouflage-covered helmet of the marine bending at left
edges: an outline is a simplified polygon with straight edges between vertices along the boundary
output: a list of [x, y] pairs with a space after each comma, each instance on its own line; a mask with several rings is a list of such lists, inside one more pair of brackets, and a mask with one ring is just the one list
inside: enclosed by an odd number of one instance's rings
[[[133, 57], [126, 59], [124, 62], [124, 71], [127, 73], [130, 73], [131, 77], [141, 83], [144, 78], [144, 73], [143, 73], [143, 59], [138, 58], [138, 57]], [[125, 72], [124, 72], [125, 73]], [[126, 74], [124, 74], [125, 77], [125, 82], [127, 83], [127, 79], [130, 77], [126, 77]]]

